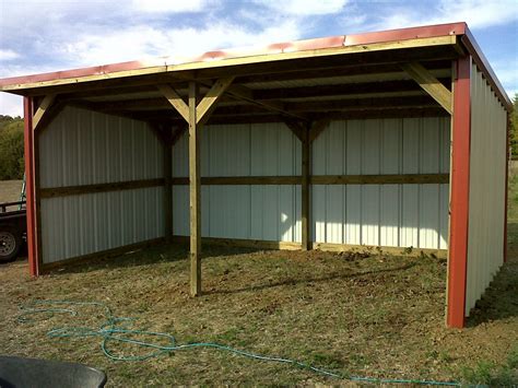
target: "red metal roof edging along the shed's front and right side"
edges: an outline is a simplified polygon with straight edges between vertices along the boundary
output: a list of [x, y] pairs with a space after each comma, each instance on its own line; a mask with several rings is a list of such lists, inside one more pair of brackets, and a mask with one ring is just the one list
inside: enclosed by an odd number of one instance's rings
[[242, 58], [251, 56], [264, 56], [281, 52], [295, 52], [305, 50], [316, 50], [333, 47], [349, 47], [349, 46], [361, 46], [377, 43], [397, 42], [397, 40], [409, 40], [415, 38], [432, 38], [447, 35], [462, 36], [462, 44], [469, 50], [469, 52], [476, 60], [479, 68], [485, 73], [488, 81], [492, 83], [495, 92], [499, 95], [504, 105], [510, 107], [511, 103], [504, 87], [499, 83], [498, 79], [494, 74], [491, 66], [485, 59], [484, 55], [480, 50], [476, 42], [470, 33], [468, 25], [464, 22], [450, 23], [450, 24], [438, 24], [420, 27], [409, 27], [399, 30], [389, 30], [373, 33], [363, 34], [351, 34], [351, 35], [339, 35], [315, 39], [294, 40], [285, 43], [271, 44], [264, 47], [244, 47], [233, 49], [221, 49], [214, 51], [208, 51], [200, 56], [187, 57], [187, 58], [173, 58], [162, 57], [151, 60], [137, 60], [129, 62], [103, 64], [90, 68], [81, 68], [64, 71], [55, 71], [48, 73], [40, 73], [34, 75], [22, 75], [0, 79], [0, 87], [8, 85], [23, 85], [35, 82], [46, 82], [54, 80], [66, 80], [76, 79], [89, 75], [109, 74], [120, 71], [140, 70], [145, 68], [154, 67], [167, 67], [184, 63], [195, 62], [209, 62], [214, 60], [225, 60], [231, 58]]

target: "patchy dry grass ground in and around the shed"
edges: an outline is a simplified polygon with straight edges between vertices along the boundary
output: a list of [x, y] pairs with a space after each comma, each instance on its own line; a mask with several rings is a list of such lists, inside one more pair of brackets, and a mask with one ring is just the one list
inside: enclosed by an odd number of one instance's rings
[[0, 267], [2, 353], [85, 363], [117, 387], [340, 383], [215, 350], [113, 362], [96, 338], [46, 337], [55, 326], [97, 327], [104, 318], [90, 307], [76, 322], [62, 315], [16, 321], [19, 306], [32, 299], [99, 301], [179, 343], [215, 341], [344, 375], [517, 384], [518, 179], [510, 189], [509, 260], [463, 330], [444, 327], [445, 260], [207, 248], [204, 293], [191, 298], [186, 248], [160, 246], [39, 279], [27, 275], [25, 260]]

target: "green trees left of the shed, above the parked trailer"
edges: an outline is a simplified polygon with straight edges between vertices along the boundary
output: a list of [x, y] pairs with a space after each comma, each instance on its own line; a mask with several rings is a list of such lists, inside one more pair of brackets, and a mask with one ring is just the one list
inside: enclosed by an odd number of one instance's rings
[[0, 115], [0, 180], [21, 179], [24, 167], [23, 120]]

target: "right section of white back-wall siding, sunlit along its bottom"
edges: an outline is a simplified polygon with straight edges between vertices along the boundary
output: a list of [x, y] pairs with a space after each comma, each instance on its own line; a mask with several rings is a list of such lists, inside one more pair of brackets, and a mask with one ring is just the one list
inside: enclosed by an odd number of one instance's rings
[[[333, 121], [313, 145], [314, 175], [447, 174], [449, 119]], [[317, 243], [446, 249], [448, 185], [314, 185]]]

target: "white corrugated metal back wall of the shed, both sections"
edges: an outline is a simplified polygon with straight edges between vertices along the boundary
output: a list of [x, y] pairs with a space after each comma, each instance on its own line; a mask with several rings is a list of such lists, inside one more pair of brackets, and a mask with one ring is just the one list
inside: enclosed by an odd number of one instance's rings
[[[449, 173], [449, 119], [334, 121], [313, 145], [313, 174]], [[188, 136], [173, 174], [188, 176]], [[282, 124], [208, 126], [203, 177], [301, 175], [301, 143]], [[189, 234], [187, 186], [175, 186], [176, 235]], [[203, 186], [202, 235], [301, 242], [299, 186]], [[448, 185], [314, 185], [313, 240], [446, 249]]]

